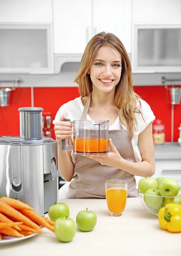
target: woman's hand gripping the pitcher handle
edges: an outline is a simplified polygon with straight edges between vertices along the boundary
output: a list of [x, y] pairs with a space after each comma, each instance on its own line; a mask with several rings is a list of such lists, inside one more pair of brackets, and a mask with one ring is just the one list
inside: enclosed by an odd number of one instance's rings
[[69, 120], [66, 114], [61, 116], [60, 120], [56, 122], [54, 126], [56, 140], [60, 142], [72, 135], [72, 124], [70, 122], [63, 121], [64, 119]]

